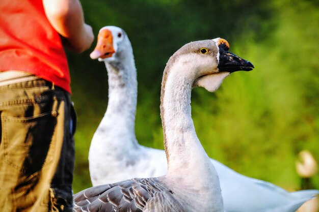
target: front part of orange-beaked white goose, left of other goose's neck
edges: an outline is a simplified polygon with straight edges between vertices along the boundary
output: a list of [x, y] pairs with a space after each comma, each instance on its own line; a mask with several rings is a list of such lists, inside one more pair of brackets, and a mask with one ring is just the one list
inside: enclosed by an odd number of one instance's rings
[[164, 175], [167, 170], [164, 151], [140, 145], [135, 136], [137, 72], [127, 35], [118, 27], [103, 27], [97, 46], [101, 49], [95, 49], [91, 57], [100, 57], [108, 51], [114, 52], [116, 59], [105, 57], [108, 59], [105, 66], [109, 76], [109, 102], [89, 150], [93, 186], [132, 177]]

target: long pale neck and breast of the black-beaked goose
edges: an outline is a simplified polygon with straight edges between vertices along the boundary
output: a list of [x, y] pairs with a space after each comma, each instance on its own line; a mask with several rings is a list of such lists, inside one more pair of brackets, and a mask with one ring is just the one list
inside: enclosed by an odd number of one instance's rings
[[221, 211], [223, 203], [219, 178], [196, 135], [191, 117], [191, 90], [194, 81], [187, 76], [191, 73], [188, 69], [188, 66], [177, 63], [167, 68], [163, 77], [161, 116], [168, 159], [166, 177], [173, 184], [180, 185], [176, 193], [180, 192], [178, 195], [182, 198], [187, 198], [189, 195], [185, 194], [188, 192], [191, 195], [193, 191], [200, 191], [200, 198], [195, 200], [197, 203], [194, 203], [194, 198], [190, 200], [192, 204], [200, 207], [208, 201], [214, 208], [220, 205], [216, 211]]

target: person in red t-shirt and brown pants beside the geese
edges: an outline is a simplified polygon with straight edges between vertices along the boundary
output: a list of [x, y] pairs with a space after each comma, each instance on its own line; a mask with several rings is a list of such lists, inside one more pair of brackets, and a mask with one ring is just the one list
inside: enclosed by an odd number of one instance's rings
[[94, 35], [78, 0], [0, 1], [1, 211], [72, 211], [76, 116], [64, 47]]

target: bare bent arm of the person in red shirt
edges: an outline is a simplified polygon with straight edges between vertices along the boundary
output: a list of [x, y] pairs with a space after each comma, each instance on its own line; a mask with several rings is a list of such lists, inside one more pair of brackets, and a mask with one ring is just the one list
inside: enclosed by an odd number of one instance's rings
[[43, 7], [67, 48], [77, 53], [90, 48], [94, 35], [92, 27], [84, 22], [79, 0], [43, 0]]

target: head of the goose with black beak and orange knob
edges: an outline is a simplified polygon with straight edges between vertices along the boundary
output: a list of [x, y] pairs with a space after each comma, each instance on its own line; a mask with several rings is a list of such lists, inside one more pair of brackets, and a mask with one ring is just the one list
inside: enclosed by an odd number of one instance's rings
[[185, 44], [170, 58], [164, 78], [172, 74], [170, 70], [178, 70], [180, 73], [173, 78], [184, 78], [192, 87], [215, 92], [230, 73], [254, 68], [249, 61], [228, 50], [229, 43], [222, 38]]

